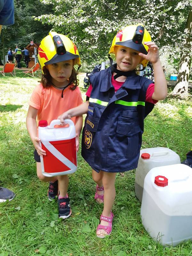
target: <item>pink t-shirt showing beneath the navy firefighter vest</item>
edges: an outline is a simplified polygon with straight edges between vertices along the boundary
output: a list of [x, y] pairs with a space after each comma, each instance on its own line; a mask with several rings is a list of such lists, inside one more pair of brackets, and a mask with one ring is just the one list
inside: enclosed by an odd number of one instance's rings
[[[111, 77], [111, 84], [114, 86], [115, 92], [117, 92], [121, 88], [121, 86], [124, 84], [124, 82], [116, 81], [114, 79], [114, 77], [112, 76]], [[86, 92], [86, 96], [90, 97], [91, 91], [92, 91], [92, 85], [89, 86], [89, 88]], [[153, 104], [157, 103], [158, 100], [153, 100], [152, 99], [153, 93], [154, 93], [154, 84], [149, 84], [147, 92], [146, 92], [146, 100], [145, 101], [151, 102]]]

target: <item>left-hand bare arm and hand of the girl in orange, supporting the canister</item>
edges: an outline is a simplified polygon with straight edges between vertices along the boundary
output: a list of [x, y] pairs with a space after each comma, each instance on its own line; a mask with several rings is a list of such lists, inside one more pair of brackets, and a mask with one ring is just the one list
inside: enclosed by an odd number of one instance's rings
[[38, 155], [46, 156], [46, 152], [39, 145], [40, 139], [37, 137], [37, 124], [36, 124], [37, 113], [38, 113], [38, 109], [29, 106], [27, 118], [26, 118], [27, 130]]

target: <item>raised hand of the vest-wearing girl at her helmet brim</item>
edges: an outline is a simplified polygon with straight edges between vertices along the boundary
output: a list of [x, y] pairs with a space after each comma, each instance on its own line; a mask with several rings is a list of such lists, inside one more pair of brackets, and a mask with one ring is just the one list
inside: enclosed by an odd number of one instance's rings
[[158, 46], [153, 42], [144, 42], [149, 47], [149, 52], [147, 55], [143, 53], [139, 53], [139, 56], [143, 59], [146, 59], [150, 61], [151, 63], [156, 63], [159, 61], [159, 48]]

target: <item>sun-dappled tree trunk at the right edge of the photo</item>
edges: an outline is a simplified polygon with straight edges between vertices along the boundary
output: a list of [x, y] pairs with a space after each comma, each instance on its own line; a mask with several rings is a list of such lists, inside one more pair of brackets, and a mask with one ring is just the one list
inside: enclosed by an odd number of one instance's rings
[[175, 88], [172, 91], [173, 95], [188, 95], [189, 71], [192, 52], [192, 10], [189, 11], [186, 30], [187, 37], [183, 44], [183, 49], [181, 50], [178, 77]]

